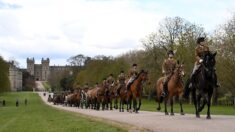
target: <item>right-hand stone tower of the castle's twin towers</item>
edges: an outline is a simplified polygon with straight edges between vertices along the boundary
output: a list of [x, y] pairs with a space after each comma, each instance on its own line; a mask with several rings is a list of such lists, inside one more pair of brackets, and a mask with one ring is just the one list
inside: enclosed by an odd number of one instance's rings
[[42, 81], [47, 81], [50, 75], [50, 66], [49, 66], [50, 59], [47, 58], [44, 60], [42, 58], [41, 63], [42, 63]]

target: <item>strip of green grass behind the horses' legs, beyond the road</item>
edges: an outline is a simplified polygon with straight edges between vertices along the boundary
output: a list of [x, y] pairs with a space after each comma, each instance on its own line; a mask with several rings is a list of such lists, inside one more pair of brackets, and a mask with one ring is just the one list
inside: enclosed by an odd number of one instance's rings
[[[141, 110], [146, 111], [156, 111], [157, 103], [154, 100], [146, 100], [143, 99]], [[164, 112], [164, 104], [161, 104], [161, 112]], [[187, 114], [194, 114], [195, 109], [193, 104], [183, 104], [184, 112]], [[170, 112], [170, 105], [167, 107], [168, 112]], [[174, 112], [180, 112], [179, 104], [174, 104]], [[205, 105], [202, 114], [206, 114], [207, 112], [207, 105]], [[211, 114], [212, 115], [235, 115], [235, 107], [234, 106], [211, 106]]]

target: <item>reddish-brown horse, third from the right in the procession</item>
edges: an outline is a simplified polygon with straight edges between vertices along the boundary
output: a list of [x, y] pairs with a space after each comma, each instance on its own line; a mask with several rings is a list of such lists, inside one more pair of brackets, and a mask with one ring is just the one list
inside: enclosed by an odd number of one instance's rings
[[[127, 104], [129, 106], [128, 110], [131, 109], [131, 100], [133, 100], [133, 109], [134, 112], [138, 113], [141, 106], [141, 95], [144, 82], [148, 80], [148, 72], [141, 70], [140, 73], [136, 76], [133, 83], [130, 85], [130, 90], [127, 92]], [[137, 98], [138, 107], [137, 107]], [[127, 106], [127, 107], [128, 107]]]

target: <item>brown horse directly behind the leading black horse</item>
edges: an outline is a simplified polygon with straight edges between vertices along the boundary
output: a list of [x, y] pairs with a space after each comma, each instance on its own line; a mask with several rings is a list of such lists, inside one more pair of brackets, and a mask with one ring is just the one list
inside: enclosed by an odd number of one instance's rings
[[[182, 96], [183, 96], [183, 81], [182, 77], [184, 76], [184, 65], [179, 64], [176, 66], [175, 70], [173, 71], [173, 75], [171, 76], [169, 82], [168, 82], [168, 96], [164, 99], [165, 104], [165, 115], [168, 115], [167, 112], [167, 101], [170, 99], [171, 104], [171, 115], [174, 115], [173, 112], [173, 97], [179, 96], [180, 101], [180, 108], [181, 108], [181, 115], [184, 115], [183, 108], [182, 108]], [[158, 108], [157, 110], [161, 110], [161, 99], [160, 94], [163, 91], [163, 80], [164, 77], [161, 77], [158, 79], [156, 84], [156, 92], [157, 92], [157, 100], [158, 100]]]

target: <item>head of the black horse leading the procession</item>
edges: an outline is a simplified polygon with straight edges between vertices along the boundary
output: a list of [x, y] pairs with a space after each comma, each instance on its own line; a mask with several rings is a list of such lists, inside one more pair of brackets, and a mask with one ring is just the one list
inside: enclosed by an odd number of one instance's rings
[[211, 77], [214, 71], [214, 67], [216, 64], [216, 60], [215, 60], [216, 54], [217, 54], [216, 52], [215, 53], [205, 52], [203, 56], [203, 65], [204, 65], [204, 68], [206, 70], [206, 74], [208, 77]]

